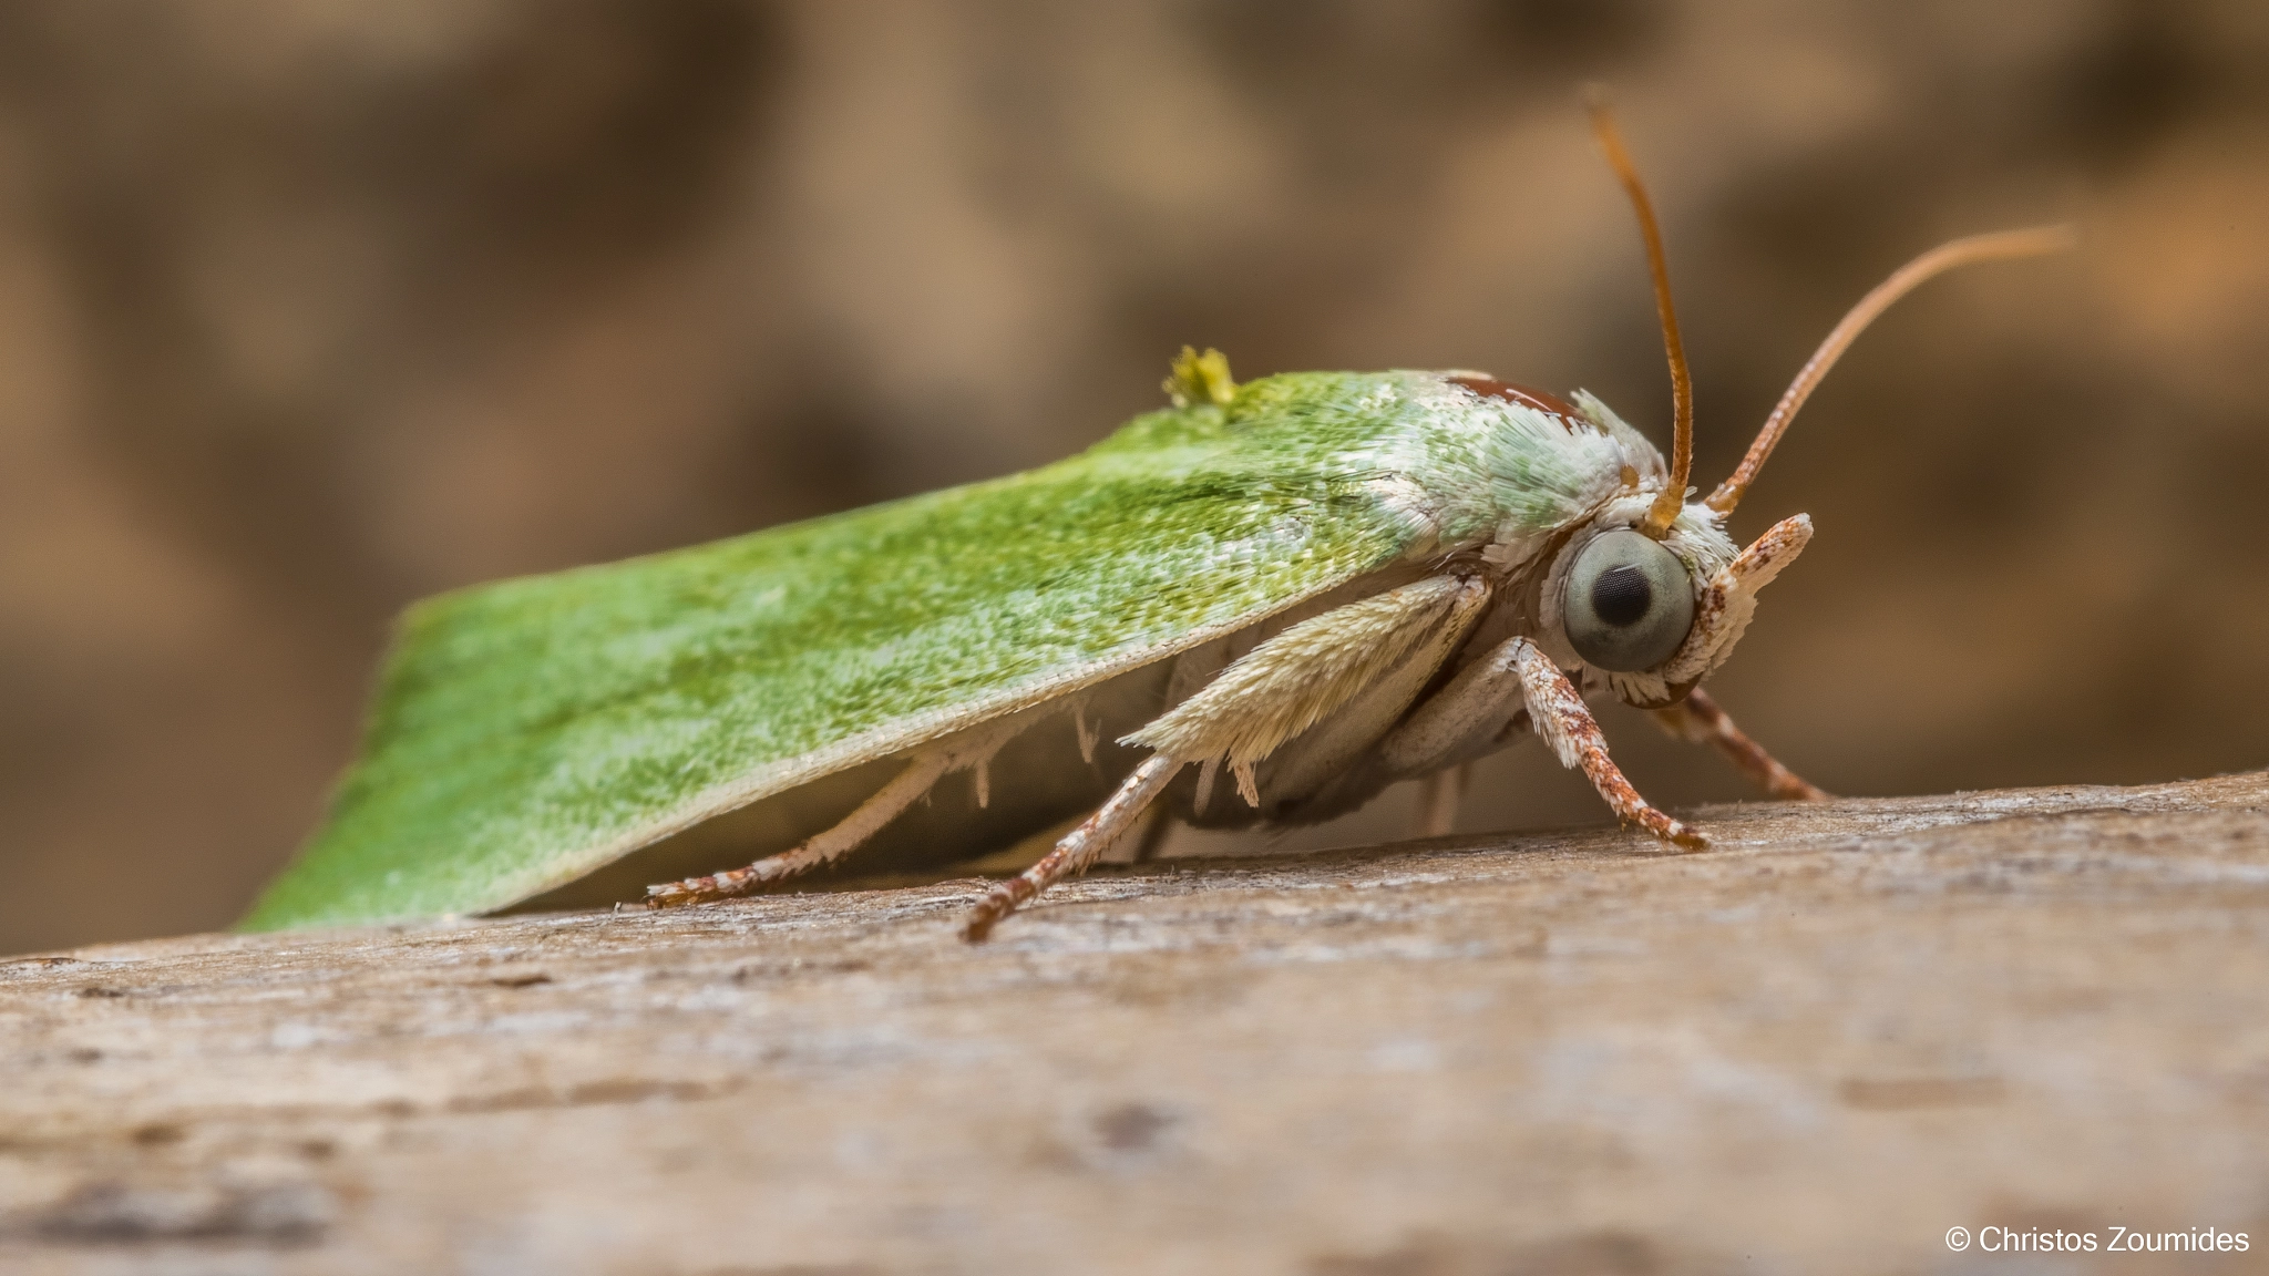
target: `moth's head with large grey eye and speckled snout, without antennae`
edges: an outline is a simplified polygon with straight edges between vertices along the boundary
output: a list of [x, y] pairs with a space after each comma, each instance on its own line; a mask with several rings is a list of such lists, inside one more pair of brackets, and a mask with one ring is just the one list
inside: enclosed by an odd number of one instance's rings
[[1736, 552], [1709, 506], [1684, 506], [1656, 536], [1650, 504], [1616, 502], [1570, 536], [1538, 602], [1561, 665], [1581, 661], [1627, 704], [1661, 708], [1734, 654], [1756, 593], [1813, 538], [1813, 520], [1786, 518]]

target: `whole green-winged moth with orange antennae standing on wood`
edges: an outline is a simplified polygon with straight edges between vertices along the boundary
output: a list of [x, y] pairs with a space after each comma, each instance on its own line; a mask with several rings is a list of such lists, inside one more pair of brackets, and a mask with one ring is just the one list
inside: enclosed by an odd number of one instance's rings
[[1464, 370], [1239, 386], [1184, 350], [1169, 406], [1041, 470], [411, 606], [359, 761], [245, 924], [606, 904], [665, 879], [649, 904], [701, 904], [1069, 822], [973, 906], [982, 940], [1169, 822], [1327, 820], [1423, 779], [1420, 831], [1445, 831], [1464, 767], [1525, 736], [1625, 824], [1704, 847], [1616, 767], [1593, 695], [1774, 797], [1820, 797], [1699, 690], [1813, 534], [1799, 513], [1740, 547], [1727, 518], [1876, 313], [2069, 234], [1958, 238], [1897, 270], [1688, 500], [1661, 232], [1604, 107], [1593, 125], [1654, 279], [1668, 461], [1581, 391]]

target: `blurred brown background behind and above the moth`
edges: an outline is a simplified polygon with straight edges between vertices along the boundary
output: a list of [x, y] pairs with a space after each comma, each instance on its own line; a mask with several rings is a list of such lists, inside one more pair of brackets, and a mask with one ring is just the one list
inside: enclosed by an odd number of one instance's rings
[[[1829, 379], [1736, 527], [1820, 538], [1720, 699], [1842, 792], [2264, 765], [2264, 66], [2258, 0], [9, 0], [0, 951], [227, 924], [404, 602], [1062, 456], [1184, 341], [1661, 434], [1586, 77], [1702, 484], [1908, 254], [2087, 238]], [[1597, 817], [1534, 749], [1468, 811]]]

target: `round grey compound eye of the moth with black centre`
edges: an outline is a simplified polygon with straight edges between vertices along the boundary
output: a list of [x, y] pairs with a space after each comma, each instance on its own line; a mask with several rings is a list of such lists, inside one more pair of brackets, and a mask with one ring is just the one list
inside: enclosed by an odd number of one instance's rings
[[1561, 595], [1568, 645], [1602, 670], [1636, 674], [1668, 661], [1695, 622], [1695, 590], [1677, 554], [1616, 529], [1577, 549]]

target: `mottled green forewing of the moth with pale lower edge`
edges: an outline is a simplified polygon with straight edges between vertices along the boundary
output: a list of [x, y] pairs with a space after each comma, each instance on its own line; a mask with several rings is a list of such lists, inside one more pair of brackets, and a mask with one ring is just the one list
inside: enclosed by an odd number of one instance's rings
[[1407, 384], [1273, 377], [1007, 479], [427, 599], [245, 926], [501, 908], [1389, 563]]

